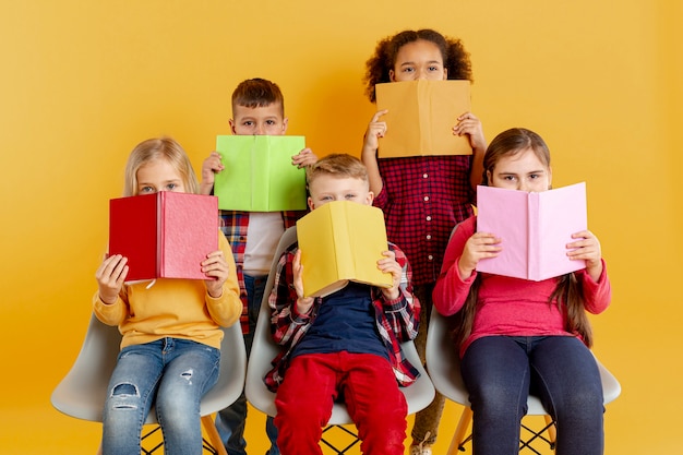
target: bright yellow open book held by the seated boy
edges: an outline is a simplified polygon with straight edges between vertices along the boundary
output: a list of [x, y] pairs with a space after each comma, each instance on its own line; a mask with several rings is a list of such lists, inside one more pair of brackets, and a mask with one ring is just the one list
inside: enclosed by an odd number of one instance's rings
[[350, 201], [328, 202], [297, 221], [305, 297], [325, 297], [349, 280], [391, 288], [378, 268], [388, 250], [380, 208]]

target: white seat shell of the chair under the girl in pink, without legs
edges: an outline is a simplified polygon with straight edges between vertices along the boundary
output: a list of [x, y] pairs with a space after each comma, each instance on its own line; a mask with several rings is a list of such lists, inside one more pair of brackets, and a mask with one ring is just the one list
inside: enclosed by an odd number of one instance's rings
[[[432, 311], [432, 316], [427, 334], [426, 348], [427, 368], [431, 375], [434, 387], [446, 398], [460, 405], [470, 406], [467, 388], [463, 382], [460, 374], [460, 359], [451, 333], [446, 318]], [[616, 378], [610, 373], [596, 358], [598, 369], [600, 370], [600, 379], [602, 381], [602, 393], [604, 404], [615, 399], [621, 393], [621, 385]], [[542, 416], [548, 412], [536, 396], [529, 396], [527, 400], [529, 416]]]

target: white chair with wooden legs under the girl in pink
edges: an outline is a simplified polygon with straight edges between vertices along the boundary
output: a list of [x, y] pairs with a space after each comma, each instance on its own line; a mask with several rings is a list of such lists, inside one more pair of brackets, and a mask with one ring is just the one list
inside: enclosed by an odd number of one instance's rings
[[[460, 375], [460, 359], [455, 349], [451, 332], [446, 318], [439, 314], [436, 311], [432, 311], [432, 318], [430, 320], [429, 333], [427, 334], [427, 367], [434, 384], [434, 387], [444, 395], [446, 398], [465, 406], [460, 420], [451, 441], [448, 447], [448, 455], [455, 455], [457, 451], [465, 451], [465, 443], [467, 443], [471, 435], [465, 436], [469, 423], [472, 419], [472, 410], [470, 409], [469, 395], [463, 378]], [[604, 396], [604, 404], [614, 400], [621, 394], [621, 385], [619, 381], [610, 373], [599, 361], [598, 368], [600, 370], [600, 379], [602, 380], [602, 393]], [[527, 400], [528, 411], [527, 416], [544, 416], [546, 427], [540, 430], [532, 430], [523, 423], [523, 428], [531, 433], [531, 436], [526, 440], [519, 441], [519, 450], [528, 448], [535, 453], [539, 453], [529, 444], [537, 440], [543, 440], [550, 444], [554, 450], [555, 443], [555, 428], [554, 422], [548, 415], [548, 411], [541, 405], [541, 402], [536, 396], [529, 396]], [[548, 438], [543, 435], [548, 432]]]

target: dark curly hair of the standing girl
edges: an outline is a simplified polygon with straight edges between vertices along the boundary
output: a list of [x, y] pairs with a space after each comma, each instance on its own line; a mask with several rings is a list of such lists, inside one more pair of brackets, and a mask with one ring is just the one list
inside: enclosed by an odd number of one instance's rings
[[374, 86], [383, 82], [391, 82], [390, 70], [394, 69], [398, 50], [405, 45], [420, 39], [431, 41], [439, 47], [444, 68], [448, 71], [448, 79], [474, 81], [469, 52], [465, 50], [463, 41], [443, 36], [431, 28], [404, 31], [380, 40], [374, 55], [366, 62], [363, 83], [366, 84], [366, 95], [371, 103], [375, 101]]

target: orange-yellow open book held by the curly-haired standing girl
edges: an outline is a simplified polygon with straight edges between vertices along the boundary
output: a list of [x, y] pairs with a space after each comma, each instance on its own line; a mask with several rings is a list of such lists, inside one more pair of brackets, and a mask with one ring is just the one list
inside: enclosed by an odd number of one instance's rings
[[469, 139], [453, 134], [457, 118], [471, 110], [469, 81], [405, 81], [375, 85], [386, 134], [380, 158], [471, 155]]

